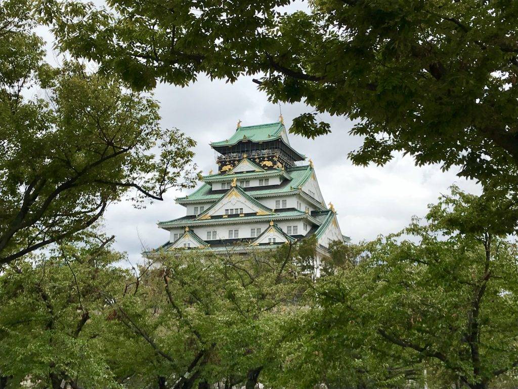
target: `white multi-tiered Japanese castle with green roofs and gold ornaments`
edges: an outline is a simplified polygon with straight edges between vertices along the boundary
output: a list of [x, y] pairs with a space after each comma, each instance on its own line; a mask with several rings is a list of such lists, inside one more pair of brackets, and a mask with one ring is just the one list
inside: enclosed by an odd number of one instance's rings
[[217, 173], [202, 177], [190, 195], [176, 199], [185, 216], [160, 221], [169, 240], [153, 251], [200, 249], [248, 253], [315, 235], [316, 255], [333, 241], [348, 241], [331, 203], [326, 206], [311, 159], [295, 150], [280, 121], [240, 126], [213, 142]]

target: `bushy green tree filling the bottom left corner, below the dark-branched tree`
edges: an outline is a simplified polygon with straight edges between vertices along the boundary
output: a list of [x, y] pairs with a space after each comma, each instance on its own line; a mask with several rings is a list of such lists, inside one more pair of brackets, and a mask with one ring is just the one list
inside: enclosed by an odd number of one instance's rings
[[[131, 351], [114, 337], [107, 295], [122, 296], [132, 274], [114, 263], [113, 237], [88, 230], [27, 255], [0, 274], [0, 387], [120, 387], [113, 355]], [[121, 344], [122, 343], [122, 344]]]

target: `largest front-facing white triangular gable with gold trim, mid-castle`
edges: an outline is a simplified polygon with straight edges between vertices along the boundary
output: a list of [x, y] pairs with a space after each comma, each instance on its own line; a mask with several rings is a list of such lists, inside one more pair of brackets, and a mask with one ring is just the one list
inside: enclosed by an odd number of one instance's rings
[[[235, 184], [233, 184], [235, 185]], [[232, 210], [232, 211], [231, 211]], [[197, 220], [210, 219], [212, 216], [244, 215], [255, 213], [256, 215], [273, 215], [274, 212], [254, 198], [250, 197], [238, 186], [233, 186], [225, 195], [215, 202]]]

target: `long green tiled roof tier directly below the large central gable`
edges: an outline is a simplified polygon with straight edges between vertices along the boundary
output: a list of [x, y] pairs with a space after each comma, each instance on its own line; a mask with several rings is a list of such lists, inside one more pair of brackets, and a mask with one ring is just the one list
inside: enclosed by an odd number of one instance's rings
[[205, 220], [197, 220], [193, 219], [189, 216], [180, 217], [178, 219], [173, 219], [169, 221], [160, 221], [158, 226], [161, 228], [170, 228], [170, 227], [186, 227], [186, 226], [203, 226], [203, 225], [211, 225], [211, 224], [236, 224], [243, 223], [244, 221], [265, 221], [265, 220], [282, 220], [282, 219], [302, 219], [308, 218], [314, 224], [318, 224], [318, 221], [315, 220], [311, 215], [306, 212], [299, 210], [287, 210], [287, 211], [279, 211], [275, 212], [272, 215], [250, 215], [250, 216], [237, 216], [237, 217], [212, 217], [210, 219]]

